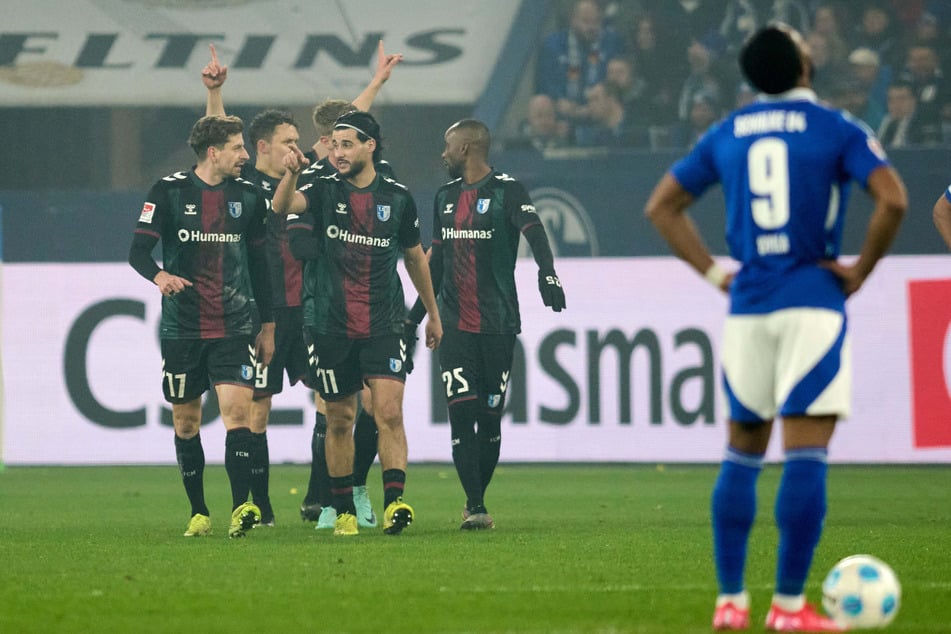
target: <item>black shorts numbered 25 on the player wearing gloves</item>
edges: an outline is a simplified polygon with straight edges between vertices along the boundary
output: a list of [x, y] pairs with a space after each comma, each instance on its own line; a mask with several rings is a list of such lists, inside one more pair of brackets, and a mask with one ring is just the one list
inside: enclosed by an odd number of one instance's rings
[[439, 344], [439, 365], [449, 403], [478, 398], [490, 408], [505, 403], [515, 335], [480, 335], [446, 329]]

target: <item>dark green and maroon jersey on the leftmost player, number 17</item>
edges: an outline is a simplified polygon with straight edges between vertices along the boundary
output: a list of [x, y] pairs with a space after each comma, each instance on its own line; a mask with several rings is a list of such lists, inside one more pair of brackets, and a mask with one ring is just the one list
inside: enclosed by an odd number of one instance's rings
[[133, 249], [151, 253], [161, 240], [164, 270], [193, 284], [162, 298], [162, 338], [252, 334], [255, 301], [261, 319], [270, 320], [265, 252], [269, 208], [267, 197], [254, 184], [229, 178], [210, 186], [194, 168], [152, 186], [135, 228]]

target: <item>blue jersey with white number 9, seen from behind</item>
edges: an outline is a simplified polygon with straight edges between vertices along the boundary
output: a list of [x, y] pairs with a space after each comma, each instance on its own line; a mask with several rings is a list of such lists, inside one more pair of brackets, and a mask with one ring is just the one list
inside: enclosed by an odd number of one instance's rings
[[726, 240], [742, 264], [732, 314], [792, 307], [844, 310], [822, 260], [840, 254], [851, 181], [887, 165], [871, 131], [798, 88], [731, 113], [672, 168], [694, 197], [715, 183], [726, 198]]

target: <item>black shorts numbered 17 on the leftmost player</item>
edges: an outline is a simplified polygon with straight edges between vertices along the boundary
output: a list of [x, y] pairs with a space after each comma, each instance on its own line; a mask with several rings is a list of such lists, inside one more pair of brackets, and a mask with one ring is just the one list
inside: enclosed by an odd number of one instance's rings
[[162, 392], [166, 401], [193, 401], [219, 383], [253, 388], [253, 337], [162, 339]]

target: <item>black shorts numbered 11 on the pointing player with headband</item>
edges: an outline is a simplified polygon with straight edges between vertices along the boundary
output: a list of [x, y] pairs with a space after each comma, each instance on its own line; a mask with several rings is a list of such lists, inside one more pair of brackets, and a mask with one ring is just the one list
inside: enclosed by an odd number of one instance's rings
[[368, 379], [406, 381], [406, 345], [400, 335], [350, 339], [319, 335], [305, 327], [304, 342], [313, 346], [310, 380], [325, 401], [356, 394]]

